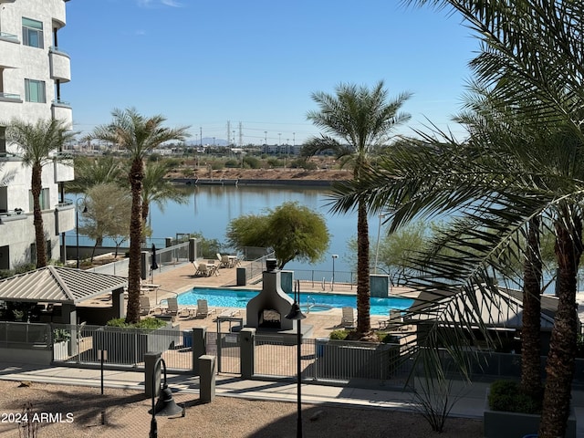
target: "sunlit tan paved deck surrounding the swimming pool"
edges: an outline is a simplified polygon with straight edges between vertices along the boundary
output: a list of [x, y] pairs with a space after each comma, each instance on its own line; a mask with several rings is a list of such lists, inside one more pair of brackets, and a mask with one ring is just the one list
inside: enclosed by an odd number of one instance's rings
[[[245, 263], [243, 264], [245, 266]], [[152, 281], [150, 278], [144, 284], [153, 283], [160, 285], [158, 288], [144, 292], [144, 295], [150, 298], [151, 307], [159, 304], [162, 299], [167, 297], [175, 297], [178, 294], [191, 290], [193, 287], [224, 287], [224, 288], [244, 288], [244, 289], [260, 289], [261, 283], [255, 285], [248, 285], [245, 287], [236, 286], [236, 269], [222, 268], [218, 271], [218, 276], [194, 276], [194, 267], [191, 263], [176, 265], [172, 269], [166, 269], [162, 273], [154, 273]], [[357, 288], [349, 284], [335, 284], [333, 290], [330, 290], [330, 285], [327, 285], [326, 291], [323, 291], [320, 284], [309, 281], [300, 282], [300, 290], [302, 292], [325, 293], [334, 292], [335, 294], [350, 294], [355, 295]], [[402, 297], [415, 298], [416, 294], [412, 290], [404, 287], [392, 287], [391, 294]], [[96, 299], [90, 301], [88, 306], [104, 306], [107, 305], [104, 300]], [[217, 323], [216, 317], [230, 310], [235, 312], [238, 318], [245, 320], [245, 308], [214, 308], [214, 314], [207, 318], [176, 318], [176, 323], [180, 324], [181, 329], [190, 329], [193, 327], [204, 327], [208, 331], [216, 331]], [[357, 311], [355, 311], [355, 318], [357, 318]], [[380, 321], [385, 321], [388, 316], [371, 315], [371, 328], [378, 328]], [[303, 324], [310, 324], [313, 326], [312, 337], [314, 338], [328, 338], [328, 334], [335, 329], [341, 328], [341, 309], [332, 308], [319, 312], [312, 312], [307, 314], [307, 318]]]

